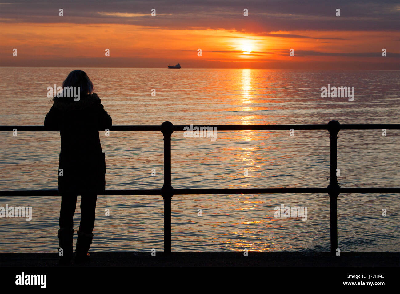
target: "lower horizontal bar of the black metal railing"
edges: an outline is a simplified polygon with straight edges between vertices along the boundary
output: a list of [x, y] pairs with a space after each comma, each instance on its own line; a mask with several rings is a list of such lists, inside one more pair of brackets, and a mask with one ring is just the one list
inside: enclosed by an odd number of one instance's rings
[[[400, 188], [340, 188], [340, 193], [400, 193]], [[328, 188], [173, 189], [174, 195], [200, 194], [307, 194], [328, 193]], [[161, 189], [106, 190], [99, 195], [161, 195]], [[57, 196], [58, 190], [8, 190], [0, 196]]]

